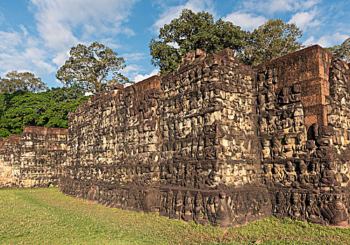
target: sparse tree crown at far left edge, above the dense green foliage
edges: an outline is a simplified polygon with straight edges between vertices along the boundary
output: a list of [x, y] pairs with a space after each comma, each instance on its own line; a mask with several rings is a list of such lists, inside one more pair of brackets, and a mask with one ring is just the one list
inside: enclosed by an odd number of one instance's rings
[[46, 83], [41, 78], [35, 77], [30, 72], [9, 71], [6, 78], [0, 78], [0, 92], [15, 92], [17, 90], [27, 92], [39, 92], [47, 90]]

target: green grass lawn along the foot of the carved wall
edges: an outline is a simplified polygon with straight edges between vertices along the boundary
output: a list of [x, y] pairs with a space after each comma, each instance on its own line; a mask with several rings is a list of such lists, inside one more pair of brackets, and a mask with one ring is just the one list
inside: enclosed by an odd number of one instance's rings
[[66, 197], [57, 188], [0, 190], [0, 244], [350, 244], [350, 229], [267, 218], [203, 227]]

